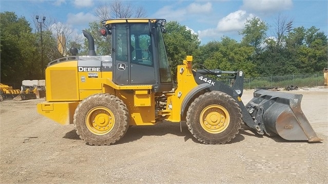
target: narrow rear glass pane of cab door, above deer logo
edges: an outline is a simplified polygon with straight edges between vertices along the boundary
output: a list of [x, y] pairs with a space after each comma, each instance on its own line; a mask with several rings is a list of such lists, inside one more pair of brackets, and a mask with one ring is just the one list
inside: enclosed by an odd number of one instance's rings
[[116, 60], [120, 60], [122, 62], [128, 62], [128, 37], [127, 37], [127, 29], [125, 24], [119, 24], [116, 26], [116, 46], [115, 46], [115, 56]]

